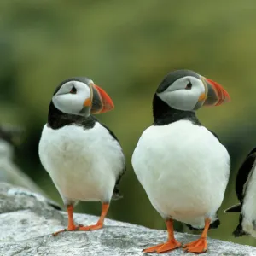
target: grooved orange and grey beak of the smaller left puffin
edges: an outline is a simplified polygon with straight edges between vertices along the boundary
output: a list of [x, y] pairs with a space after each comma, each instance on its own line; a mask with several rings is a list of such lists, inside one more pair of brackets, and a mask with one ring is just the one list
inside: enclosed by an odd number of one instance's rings
[[113, 110], [113, 101], [100, 86], [90, 83], [90, 98], [84, 101], [84, 107], [90, 106], [90, 113], [105, 113]]

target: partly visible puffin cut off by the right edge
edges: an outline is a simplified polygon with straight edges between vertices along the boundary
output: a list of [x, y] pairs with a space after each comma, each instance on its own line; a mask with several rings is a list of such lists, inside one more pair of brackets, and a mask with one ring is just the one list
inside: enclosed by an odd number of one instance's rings
[[256, 148], [247, 154], [236, 175], [236, 196], [240, 203], [224, 212], [240, 212], [235, 237], [250, 235], [256, 238]]

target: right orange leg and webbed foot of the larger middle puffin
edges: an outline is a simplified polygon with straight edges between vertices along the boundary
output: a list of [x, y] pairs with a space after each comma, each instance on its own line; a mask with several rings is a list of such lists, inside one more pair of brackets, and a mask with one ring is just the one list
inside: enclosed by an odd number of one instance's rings
[[198, 240], [189, 242], [183, 246], [184, 251], [190, 253], [205, 253], [207, 251], [207, 231], [211, 224], [211, 219], [206, 218], [205, 228], [201, 233], [201, 237]]

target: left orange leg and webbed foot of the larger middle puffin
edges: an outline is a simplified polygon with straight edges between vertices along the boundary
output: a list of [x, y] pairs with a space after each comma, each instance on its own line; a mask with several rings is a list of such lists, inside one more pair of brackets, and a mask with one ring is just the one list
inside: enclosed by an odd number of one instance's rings
[[168, 219], [166, 220], [166, 227], [168, 231], [168, 241], [165, 243], [160, 243], [157, 246], [149, 247], [144, 249], [144, 253], [166, 253], [172, 251], [178, 247], [181, 247], [181, 243], [175, 240], [174, 238], [174, 231], [173, 231], [173, 220]]

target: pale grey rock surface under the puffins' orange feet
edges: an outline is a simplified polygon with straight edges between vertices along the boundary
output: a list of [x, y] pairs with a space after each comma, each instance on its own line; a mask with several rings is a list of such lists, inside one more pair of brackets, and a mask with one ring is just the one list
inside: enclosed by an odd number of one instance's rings
[[[95, 224], [97, 217], [74, 214], [78, 224]], [[0, 255], [2, 256], [84, 256], [157, 255], [143, 253], [145, 247], [166, 241], [165, 230], [107, 219], [102, 230], [51, 234], [67, 226], [67, 213], [56, 210], [42, 196], [26, 189], [0, 183]], [[198, 236], [176, 233], [178, 241], [193, 241]], [[256, 255], [256, 247], [208, 238], [203, 255]], [[164, 255], [194, 255], [177, 249]]]

